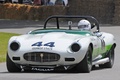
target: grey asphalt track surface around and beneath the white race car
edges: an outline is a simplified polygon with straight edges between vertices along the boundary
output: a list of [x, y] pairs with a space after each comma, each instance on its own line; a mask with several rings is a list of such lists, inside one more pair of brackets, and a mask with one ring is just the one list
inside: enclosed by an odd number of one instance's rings
[[[7, 24], [4, 24], [6, 23]], [[28, 23], [27, 23], [28, 22]], [[10, 26], [10, 27], [9, 27]], [[0, 21], [0, 32], [25, 34], [42, 26], [39, 21]], [[96, 68], [90, 73], [32, 72], [9, 73], [5, 63], [0, 63], [0, 80], [120, 80], [120, 26], [102, 26], [101, 31], [112, 33], [116, 38], [115, 63], [112, 69]]]

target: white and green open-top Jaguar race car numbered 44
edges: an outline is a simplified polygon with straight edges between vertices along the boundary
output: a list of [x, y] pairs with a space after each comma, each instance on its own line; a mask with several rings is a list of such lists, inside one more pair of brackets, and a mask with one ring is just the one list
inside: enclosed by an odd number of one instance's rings
[[[80, 19], [90, 21], [91, 31], [78, 30], [74, 22]], [[43, 29], [10, 38], [6, 66], [9, 72], [76, 70], [89, 73], [95, 65], [112, 68], [115, 47], [114, 36], [100, 32], [94, 17], [54, 15], [46, 19]]]

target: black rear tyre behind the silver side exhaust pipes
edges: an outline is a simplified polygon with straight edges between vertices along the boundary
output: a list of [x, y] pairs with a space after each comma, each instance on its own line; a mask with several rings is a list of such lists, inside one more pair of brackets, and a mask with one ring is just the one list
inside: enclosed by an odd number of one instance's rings
[[112, 48], [110, 49], [110, 51], [108, 52], [107, 56], [109, 58], [109, 62], [105, 63], [105, 64], [101, 64], [99, 65], [101, 68], [112, 68], [113, 64], [114, 64], [114, 46], [112, 46]]

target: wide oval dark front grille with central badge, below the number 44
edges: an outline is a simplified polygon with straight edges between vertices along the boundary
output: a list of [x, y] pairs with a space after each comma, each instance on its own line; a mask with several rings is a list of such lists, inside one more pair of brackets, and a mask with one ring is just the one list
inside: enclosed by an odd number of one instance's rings
[[31, 52], [24, 54], [24, 59], [34, 62], [54, 62], [60, 59], [60, 55], [56, 53]]

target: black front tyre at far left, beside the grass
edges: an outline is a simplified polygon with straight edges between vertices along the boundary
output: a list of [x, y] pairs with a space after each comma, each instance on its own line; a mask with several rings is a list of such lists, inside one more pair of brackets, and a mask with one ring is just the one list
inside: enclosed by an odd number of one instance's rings
[[19, 68], [15, 63], [12, 62], [8, 54], [6, 57], [6, 61], [7, 70], [9, 72], [21, 72], [21, 68]]

